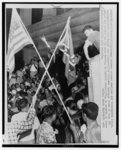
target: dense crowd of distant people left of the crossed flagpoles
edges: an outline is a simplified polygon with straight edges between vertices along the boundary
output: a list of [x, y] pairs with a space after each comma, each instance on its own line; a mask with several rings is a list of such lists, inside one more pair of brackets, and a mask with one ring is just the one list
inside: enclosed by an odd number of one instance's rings
[[11, 116], [19, 112], [18, 102], [22, 97], [27, 98], [31, 104], [32, 96], [35, 94], [39, 82], [44, 73], [41, 61], [34, 57], [29, 64], [8, 76], [8, 120]]

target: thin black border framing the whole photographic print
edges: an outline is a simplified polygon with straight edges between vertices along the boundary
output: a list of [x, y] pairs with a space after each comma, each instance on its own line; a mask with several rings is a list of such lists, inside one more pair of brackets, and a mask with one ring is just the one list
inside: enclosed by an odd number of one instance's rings
[[117, 6], [117, 42], [116, 42], [116, 145], [105, 144], [48, 144], [48, 145], [14, 145], [2, 144], [2, 147], [100, 147], [118, 148], [119, 147], [119, 2], [2, 2], [2, 134], [5, 132], [5, 5], [6, 4], [113, 4]]

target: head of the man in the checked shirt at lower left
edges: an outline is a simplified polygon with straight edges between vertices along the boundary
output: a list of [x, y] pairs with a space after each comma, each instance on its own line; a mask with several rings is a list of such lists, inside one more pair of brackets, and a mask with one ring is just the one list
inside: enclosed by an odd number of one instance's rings
[[20, 99], [18, 102], [18, 108], [19, 108], [19, 110], [21, 110], [23, 112], [27, 112], [29, 109], [28, 100], [25, 98]]

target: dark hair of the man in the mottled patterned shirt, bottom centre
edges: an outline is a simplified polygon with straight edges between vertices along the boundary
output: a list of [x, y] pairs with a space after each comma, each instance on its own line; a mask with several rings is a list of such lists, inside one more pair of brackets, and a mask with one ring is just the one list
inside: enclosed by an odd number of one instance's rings
[[45, 106], [43, 109], [42, 109], [42, 120], [45, 119], [45, 118], [48, 118], [48, 117], [51, 117], [52, 115], [56, 114], [56, 109], [54, 106]]

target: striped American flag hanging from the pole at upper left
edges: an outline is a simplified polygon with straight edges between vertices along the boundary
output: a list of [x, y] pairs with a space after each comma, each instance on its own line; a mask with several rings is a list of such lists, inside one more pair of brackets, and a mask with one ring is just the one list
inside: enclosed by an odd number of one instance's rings
[[12, 73], [15, 68], [14, 55], [28, 44], [32, 44], [30, 35], [27, 32], [17, 10], [13, 8], [7, 52], [7, 70], [9, 73]]

